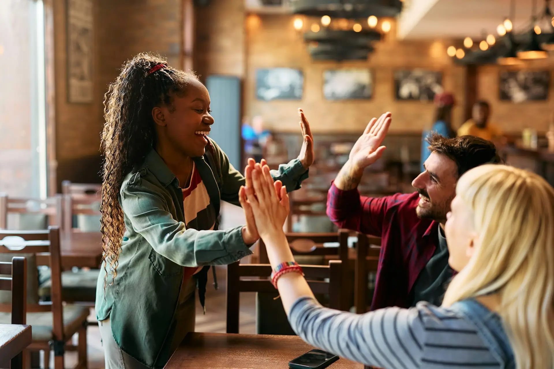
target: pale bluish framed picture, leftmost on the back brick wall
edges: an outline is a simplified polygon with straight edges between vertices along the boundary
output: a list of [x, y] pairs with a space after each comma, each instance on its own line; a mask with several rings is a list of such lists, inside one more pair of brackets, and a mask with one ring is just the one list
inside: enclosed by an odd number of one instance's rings
[[258, 100], [302, 100], [304, 75], [291, 68], [256, 70], [256, 97]]

